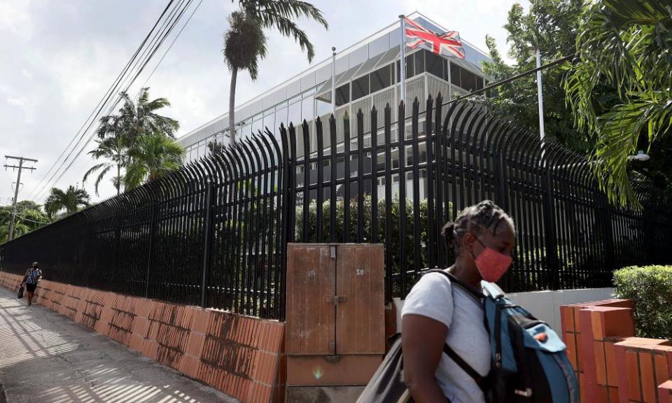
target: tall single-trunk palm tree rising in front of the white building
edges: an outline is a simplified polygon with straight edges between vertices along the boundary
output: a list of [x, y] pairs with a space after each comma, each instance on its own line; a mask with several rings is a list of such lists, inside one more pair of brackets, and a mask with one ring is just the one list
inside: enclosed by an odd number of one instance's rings
[[258, 59], [266, 56], [266, 36], [264, 29], [277, 29], [282, 36], [293, 36], [301, 50], [308, 54], [311, 62], [315, 56], [313, 44], [308, 36], [294, 22], [300, 17], [316, 20], [328, 28], [322, 12], [300, 0], [239, 0], [240, 10], [234, 11], [228, 18], [229, 30], [224, 35], [224, 59], [231, 71], [229, 92], [229, 139], [233, 146], [236, 142], [235, 97], [238, 70], [247, 70], [252, 80], [258, 73]]

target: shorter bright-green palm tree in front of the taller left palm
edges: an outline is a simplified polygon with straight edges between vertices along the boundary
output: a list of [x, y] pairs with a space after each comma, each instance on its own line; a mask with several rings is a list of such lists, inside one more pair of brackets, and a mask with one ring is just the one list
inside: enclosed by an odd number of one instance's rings
[[140, 136], [129, 153], [129, 163], [124, 176], [126, 189], [137, 188], [153, 181], [182, 165], [184, 148], [161, 134]]

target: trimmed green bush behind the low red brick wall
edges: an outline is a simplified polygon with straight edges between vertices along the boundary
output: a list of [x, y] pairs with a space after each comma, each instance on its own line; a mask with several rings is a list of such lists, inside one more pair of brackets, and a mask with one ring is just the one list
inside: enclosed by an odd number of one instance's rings
[[639, 337], [672, 339], [672, 266], [625, 267], [614, 285], [617, 297], [635, 302]]

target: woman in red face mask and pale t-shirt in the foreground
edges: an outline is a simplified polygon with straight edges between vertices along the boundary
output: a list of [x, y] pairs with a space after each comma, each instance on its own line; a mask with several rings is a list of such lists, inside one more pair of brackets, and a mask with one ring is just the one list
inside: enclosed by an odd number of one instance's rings
[[[482, 294], [481, 281], [496, 282], [510, 267], [515, 229], [509, 215], [492, 201], [466, 208], [443, 228], [455, 263], [447, 271]], [[423, 276], [402, 310], [404, 379], [416, 403], [482, 403], [474, 379], [443, 353], [448, 344], [479, 375], [490, 371], [490, 342], [482, 299], [447, 276]]]

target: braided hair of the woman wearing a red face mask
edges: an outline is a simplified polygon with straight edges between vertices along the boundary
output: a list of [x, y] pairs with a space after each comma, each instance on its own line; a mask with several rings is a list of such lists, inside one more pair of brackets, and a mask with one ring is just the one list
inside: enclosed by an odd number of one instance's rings
[[490, 200], [484, 200], [475, 206], [465, 208], [455, 222], [448, 222], [443, 226], [441, 233], [446, 239], [448, 250], [451, 250], [456, 257], [462, 248], [465, 234], [470, 232], [479, 236], [491, 228], [494, 235], [502, 221], [508, 222], [515, 232], [511, 217], [500, 206]]

